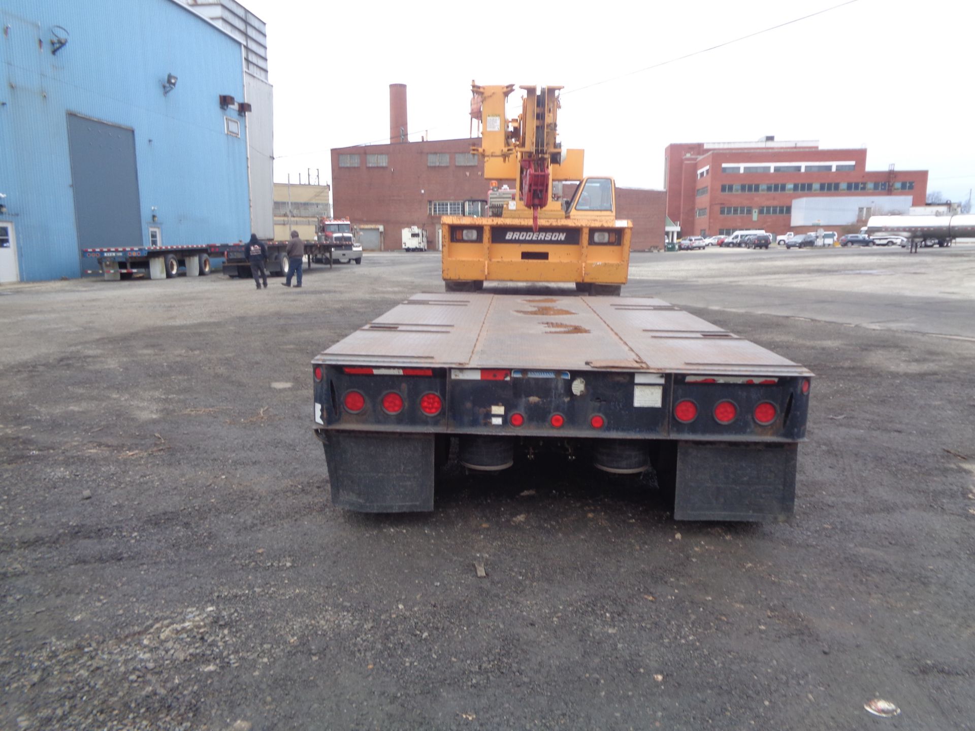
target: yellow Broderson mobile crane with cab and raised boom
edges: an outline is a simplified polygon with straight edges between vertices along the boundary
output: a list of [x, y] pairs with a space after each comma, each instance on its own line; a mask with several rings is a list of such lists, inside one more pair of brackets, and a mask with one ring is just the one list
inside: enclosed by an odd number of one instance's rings
[[[507, 119], [514, 85], [471, 84], [471, 116], [491, 183], [487, 216], [444, 216], [443, 276], [448, 291], [485, 282], [572, 282], [590, 294], [619, 294], [630, 264], [633, 224], [616, 218], [611, 177], [584, 177], [583, 151], [558, 140], [562, 87], [521, 87], [522, 113]], [[514, 180], [499, 187], [497, 180]], [[570, 197], [563, 181], [579, 181]]]

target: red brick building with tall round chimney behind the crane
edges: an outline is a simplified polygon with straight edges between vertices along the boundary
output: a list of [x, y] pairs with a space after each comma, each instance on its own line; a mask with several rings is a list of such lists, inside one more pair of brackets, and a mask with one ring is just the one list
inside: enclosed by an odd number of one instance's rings
[[[406, 87], [391, 85], [390, 143], [331, 150], [332, 212], [360, 229], [364, 248], [398, 250], [409, 226], [425, 229], [434, 248], [442, 215], [473, 213], [469, 202], [487, 200], [484, 160], [470, 151], [480, 137], [410, 142], [406, 107]], [[513, 180], [498, 182], [514, 187]], [[634, 223], [634, 250], [662, 248], [665, 196], [617, 188], [618, 215]]]

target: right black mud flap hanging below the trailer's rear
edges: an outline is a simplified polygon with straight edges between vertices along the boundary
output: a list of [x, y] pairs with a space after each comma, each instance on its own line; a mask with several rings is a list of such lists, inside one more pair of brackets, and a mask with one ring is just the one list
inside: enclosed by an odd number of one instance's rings
[[798, 452], [798, 444], [681, 442], [674, 518], [792, 518]]

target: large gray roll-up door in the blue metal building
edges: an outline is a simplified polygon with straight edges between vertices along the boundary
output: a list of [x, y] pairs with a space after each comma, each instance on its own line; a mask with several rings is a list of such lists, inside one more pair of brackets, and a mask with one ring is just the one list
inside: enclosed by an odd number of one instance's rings
[[67, 115], [78, 248], [142, 246], [136, 134]]

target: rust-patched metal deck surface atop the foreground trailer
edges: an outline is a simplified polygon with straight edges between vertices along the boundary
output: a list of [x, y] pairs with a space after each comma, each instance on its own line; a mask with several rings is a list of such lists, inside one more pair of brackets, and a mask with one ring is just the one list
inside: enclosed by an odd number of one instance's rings
[[660, 299], [563, 294], [414, 294], [315, 363], [810, 374]]

